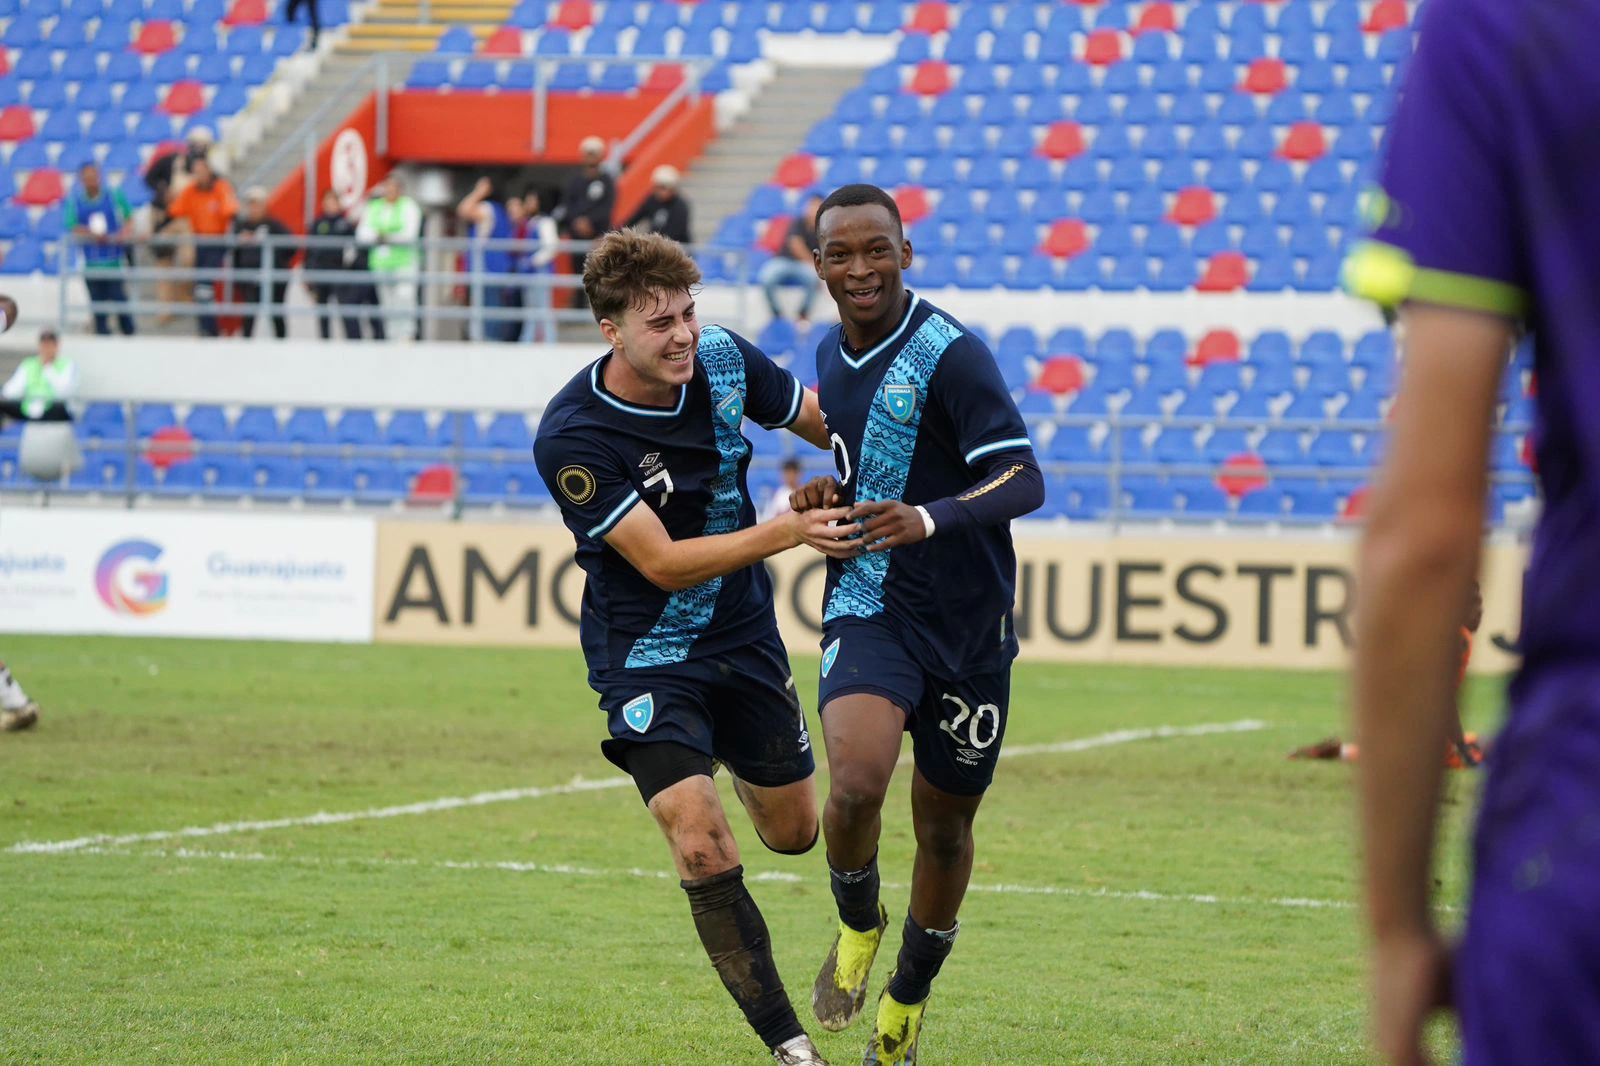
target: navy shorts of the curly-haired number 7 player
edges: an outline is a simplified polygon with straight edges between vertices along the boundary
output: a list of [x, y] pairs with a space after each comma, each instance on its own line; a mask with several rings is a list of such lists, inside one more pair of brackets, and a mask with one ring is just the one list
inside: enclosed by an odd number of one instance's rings
[[686, 663], [590, 671], [589, 685], [600, 693], [611, 731], [600, 751], [622, 770], [629, 746], [675, 741], [720, 759], [757, 787], [816, 771], [805, 709], [776, 631]]

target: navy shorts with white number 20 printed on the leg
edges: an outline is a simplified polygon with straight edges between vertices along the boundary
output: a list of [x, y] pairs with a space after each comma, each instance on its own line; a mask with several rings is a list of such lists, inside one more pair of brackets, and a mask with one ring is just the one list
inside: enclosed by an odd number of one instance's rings
[[886, 621], [842, 618], [822, 632], [826, 711], [838, 696], [870, 693], [906, 712], [922, 776], [954, 795], [981, 795], [995, 776], [1011, 701], [1011, 669], [939, 677], [922, 667]]

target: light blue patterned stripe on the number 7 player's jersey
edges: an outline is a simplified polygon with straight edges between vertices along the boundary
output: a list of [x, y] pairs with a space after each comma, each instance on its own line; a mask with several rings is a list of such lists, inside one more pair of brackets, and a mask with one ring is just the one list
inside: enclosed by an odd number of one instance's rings
[[[744, 352], [726, 330], [707, 327], [701, 331], [698, 359], [710, 381], [710, 421], [722, 456], [717, 477], [710, 480], [710, 504], [706, 507], [702, 533], [714, 536], [736, 531], [739, 514], [744, 511], [739, 463], [750, 450], [744, 434], [739, 432], [744, 415]], [[634, 642], [626, 666], [666, 666], [686, 659], [690, 647], [710, 626], [720, 594], [722, 578], [674, 592], [650, 632]]]

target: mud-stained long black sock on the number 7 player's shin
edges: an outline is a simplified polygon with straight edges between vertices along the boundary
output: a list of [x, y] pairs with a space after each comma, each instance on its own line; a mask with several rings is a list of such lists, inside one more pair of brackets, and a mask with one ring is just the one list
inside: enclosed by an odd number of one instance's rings
[[755, 1036], [766, 1047], [803, 1036], [773, 962], [766, 920], [744, 887], [744, 868], [678, 884], [690, 896], [690, 914], [706, 954]]

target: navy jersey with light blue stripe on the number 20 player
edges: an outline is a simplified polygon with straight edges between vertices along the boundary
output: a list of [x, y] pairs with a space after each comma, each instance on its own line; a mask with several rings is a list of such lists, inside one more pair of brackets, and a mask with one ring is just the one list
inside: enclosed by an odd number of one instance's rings
[[[834, 437], [843, 503], [958, 496], [979, 466], [1032, 453], [1022, 416], [982, 341], [915, 293], [888, 338], [854, 352], [835, 327], [816, 351], [818, 399]], [[1016, 658], [1016, 551], [1008, 525], [827, 562], [824, 624], [883, 616], [938, 675]]]

